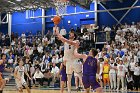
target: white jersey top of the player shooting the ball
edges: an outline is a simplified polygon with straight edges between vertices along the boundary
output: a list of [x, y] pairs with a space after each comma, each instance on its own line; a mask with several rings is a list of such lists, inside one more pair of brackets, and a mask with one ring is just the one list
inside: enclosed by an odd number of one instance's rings
[[73, 59], [74, 58], [74, 45], [64, 43], [64, 59]]

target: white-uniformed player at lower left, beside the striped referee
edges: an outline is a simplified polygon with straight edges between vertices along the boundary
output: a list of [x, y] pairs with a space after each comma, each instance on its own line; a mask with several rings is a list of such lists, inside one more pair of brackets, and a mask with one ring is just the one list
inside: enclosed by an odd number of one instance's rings
[[25, 88], [27, 89], [27, 92], [28, 93], [31, 93], [31, 91], [30, 91], [30, 89], [29, 89], [29, 87], [28, 87], [28, 85], [27, 85], [27, 83], [26, 83], [26, 81], [24, 79], [24, 73], [31, 80], [29, 74], [24, 69], [23, 61], [20, 60], [19, 61], [19, 66], [17, 66], [15, 68], [15, 71], [14, 71], [15, 82], [16, 82], [16, 85], [17, 85], [17, 88], [18, 88], [19, 93], [23, 93], [22, 86], [25, 86]]

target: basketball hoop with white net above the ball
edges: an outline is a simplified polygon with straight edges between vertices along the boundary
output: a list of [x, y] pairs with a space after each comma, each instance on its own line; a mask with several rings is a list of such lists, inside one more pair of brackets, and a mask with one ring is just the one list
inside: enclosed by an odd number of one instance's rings
[[67, 13], [67, 0], [54, 0], [54, 4], [56, 6], [56, 15], [62, 16]]

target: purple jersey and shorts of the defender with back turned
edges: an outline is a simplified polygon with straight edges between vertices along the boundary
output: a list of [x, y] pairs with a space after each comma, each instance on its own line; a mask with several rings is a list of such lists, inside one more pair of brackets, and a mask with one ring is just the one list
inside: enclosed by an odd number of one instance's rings
[[92, 87], [92, 89], [97, 89], [100, 87], [100, 84], [96, 81], [97, 73], [97, 59], [91, 56], [88, 56], [84, 65], [83, 65], [83, 85], [85, 89]]

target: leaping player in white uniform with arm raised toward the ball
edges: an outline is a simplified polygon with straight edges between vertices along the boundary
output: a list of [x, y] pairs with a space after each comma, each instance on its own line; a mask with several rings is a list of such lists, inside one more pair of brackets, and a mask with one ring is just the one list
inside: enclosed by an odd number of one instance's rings
[[75, 50], [75, 46], [77, 45], [76, 40], [74, 41], [75, 33], [73, 30], [71, 30], [69, 32], [69, 39], [66, 39], [62, 35], [60, 35], [58, 30], [55, 30], [55, 34], [57, 35], [58, 39], [64, 43], [63, 60], [66, 62], [68, 93], [71, 93], [71, 78], [72, 78], [72, 73], [75, 72], [75, 68], [76, 68], [76, 66], [74, 65], [74, 63], [76, 62], [76, 58], [74, 56], [74, 50]]

